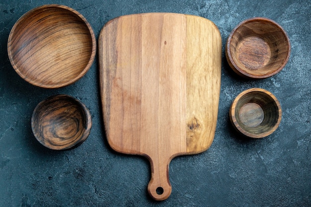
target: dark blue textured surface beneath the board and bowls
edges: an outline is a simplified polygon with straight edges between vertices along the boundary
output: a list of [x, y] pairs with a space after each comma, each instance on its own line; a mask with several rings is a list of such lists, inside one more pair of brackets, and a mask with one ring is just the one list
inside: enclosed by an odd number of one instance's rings
[[[97, 60], [78, 82], [43, 89], [21, 79], [7, 57], [13, 24], [28, 10], [58, 3], [78, 10], [96, 38], [110, 19], [142, 12], [177, 12], [212, 20], [223, 39], [219, 115], [212, 146], [201, 154], [176, 157], [169, 166], [171, 196], [153, 201], [147, 193], [145, 158], [114, 152], [104, 137]], [[240, 21], [262, 16], [288, 33], [292, 53], [286, 67], [263, 80], [235, 75], [225, 43]], [[311, 1], [310, 0], [2, 0], [0, 2], [0, 207], [309, 207], [311, 206]], [[283, 117], [262, 139], [236, 134], [229, 108], [241, 91], [260, 87], [280, 101]], [[54, 94], [81, 100], [93, 126], [77, 148], [53, 151], [31, 132], [35, 106]]]

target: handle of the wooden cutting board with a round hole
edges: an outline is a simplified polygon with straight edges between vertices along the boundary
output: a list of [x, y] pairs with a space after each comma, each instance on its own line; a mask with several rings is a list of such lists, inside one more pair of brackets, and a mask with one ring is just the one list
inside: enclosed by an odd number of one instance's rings
[[149, 195], [156, 201], [167, 199], [172, 192], [172, 187], [169, 183], [168, 165], [171, 159], [167, 162], [159, 162], [158, 159], [149, 159], [151, 164], [151, 180], [148, 184]]

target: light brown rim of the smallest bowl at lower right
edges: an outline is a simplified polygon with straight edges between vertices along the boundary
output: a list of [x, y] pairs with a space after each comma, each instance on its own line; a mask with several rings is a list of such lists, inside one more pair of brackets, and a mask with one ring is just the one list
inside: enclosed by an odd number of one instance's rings
[[[276, 106], [278, 108], [278, 121], [277, 123], [269, 130], [269, 131], [266, 131], [266, 132], [263, 132], [263, 133], [260, 133], [260, 134], [254, 134], [254, 133], [250, 133], [246, 130], [244, 130], [237, 122], [236, 120], [236, 116], [235, 116], [235, 108], [236, 108], [236, 105], [237, 103], [239, 102], [240, 98], [246, 94], [249, 94], [251, 92], [263, 92], [265, 93], [266, 95], [270, 96], [273, 101], [276, 103]], [[247, 90], [244, 90], [242, 91], [241, 93], [239, 93], [235, 99], [233, 100], [232, 104], [231, 104], [231, 107], [230, 107], [230, 111], [229, 111], [229, 117], [230, 117], [230, 121], [233, 125], [233, 128], [241, 133], [242, 135], [246, 136], [246, 137], [249, 137], [249, 138], [264, 138], [264, 137], [267, 137], [269, 135], [271, 135], [280, 125], [281, 123], [281, 120], [282, 120], [282, 108], [281, 108], [281, 105], [280, 105], [280, 102], [278, 101], [278, 99], [269, 91], [265, 90], [265, 89], [262, 89], [262, 88], [249, 88]]]

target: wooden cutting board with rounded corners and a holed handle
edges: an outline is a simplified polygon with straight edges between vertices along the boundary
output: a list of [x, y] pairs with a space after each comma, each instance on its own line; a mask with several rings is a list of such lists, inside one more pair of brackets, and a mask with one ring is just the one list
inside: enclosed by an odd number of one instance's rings
[[98, 44], [108, 142], [118, 152], [149, 159], [149, 194], [164, 200], [171, 193], [170, 160], [205, 151], [214, 139], [220, 32], [198, 16], [133, 14], [105, 24]]

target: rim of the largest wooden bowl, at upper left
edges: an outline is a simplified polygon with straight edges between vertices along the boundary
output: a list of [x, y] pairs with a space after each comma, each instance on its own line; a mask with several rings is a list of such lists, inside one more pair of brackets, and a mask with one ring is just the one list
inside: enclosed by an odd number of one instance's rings
[[[12, 46], [11, 41], [13, 39], [13, 35], [15, 33], [16, 27], [19, 24], [23, 24], [24, 18], [27, 17], [27, 15], [29, 15], [29, 14], [37, 11], [37, 10], [44, 9], [44, 8], [51, 8], [51, 7], [56, 7], [56, 8], [61, 8], [61, 9], [68, 10], [69, 12], [71, 12], [72, 15], [77, 16], [78, 18], [80, 18], [84, 22], [84, 24], [88, 28], [88, 31], [90, 33], [90, 37], [91, 37], [91, 40], [92, 40], [92, 52], [91, 52], [90, 58], [88, 60], [87, 65], [85, 66], [85, 68], [80, 73], [78, 73], [74, 78], [71, 78], [69, 81], [66, 81], [66, 82], [63, 82], [63, 83], [46, 84], [44, 82], [41, 83], [41, 82], [38, 82], [36, 80], [31, 80], [30, 78], [28, 78], [24, 74], [24, 72], [22, 72], [16, 66], [15, 60], [13, 58], [13, 54], [12, 54], [12, 51], [10, 50], [10, 48]], [[88, 21], [85, 19], [85, 17], [82, 14], [80, 14], [77, 10], [75, 10], [75, 9], [69, 7], [69, 6], [61, 5], [61, 4], [44, 4], [44, 5], [37, 6], [35, 8], [32, 8], [31, 10], [27, 11], [21, 17], [19, 17], [17, 19], [17, 21], [14, 23], [14, 25], [13, 25], [10, 33], [9, 33], [8, 40], [7, 40], [7, 54], [8, 54], [8, 58], [9, 58], [9, 61], [10, 61], [11, 65], [12, 65], [13, 69], [25, 81], [29, 82], [32, 85], [35, 85], [35, 86], [38, 86], [38, 87], [42, 87], [42, 88], [61, 88], [61, 87], [70, 85], [70, 84], [78, 81], [91, 68], [91, 66], [93, 64], [93, 61], [95, 59], [95, 55], [96, 55], [96, 38], [95, 38], [95, 34], [94, 34], [94, 31], [93, 31], [91, 25], [88, 23]]]

